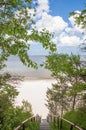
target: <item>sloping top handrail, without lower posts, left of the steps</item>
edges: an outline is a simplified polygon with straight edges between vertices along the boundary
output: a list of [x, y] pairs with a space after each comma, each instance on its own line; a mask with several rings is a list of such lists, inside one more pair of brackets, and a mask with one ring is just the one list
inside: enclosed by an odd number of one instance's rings
[[[38, 117], [39, 119], [37, 119], [37, 117]], [[28, 118], [28, 119], [22, 121], [21, 124], [20, 124], [19, 126], [17, 126], [14, 130], [19, 130], [20, 128], [23, 128], [23, 130], [25, 130], [24, 125], [25, 125], [25, 123], [26, 123], [27, 121], [29, 121], [29, 120], [30, 120], [30, 121], [31, 121], [31, 120], [34, 120], [34, 121], [39, 121], [39, 122], [40, 122], [41, 118], [40, 118], [40, 116], [38, 116], [38, 115], [32, 116], [32, 117], [30, 117], [30, 118]]]

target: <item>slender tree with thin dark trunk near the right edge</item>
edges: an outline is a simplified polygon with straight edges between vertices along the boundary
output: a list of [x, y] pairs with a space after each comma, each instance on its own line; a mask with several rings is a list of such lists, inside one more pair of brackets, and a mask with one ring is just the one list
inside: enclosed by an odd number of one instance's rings
[[[83, 75], [86, 72], [86, 67], [80, 63], [80, 56], [72, 55], [70, 57], [71, 73], [70, 77], [70, 91], [69, 95], [72, 96], [72, 110], [76, 108], [78, 98], [82, 97], [82, 92], [86, 90], [86, 83], [83, 79]], [[86, 76], [85, 76], [86, 77]]]

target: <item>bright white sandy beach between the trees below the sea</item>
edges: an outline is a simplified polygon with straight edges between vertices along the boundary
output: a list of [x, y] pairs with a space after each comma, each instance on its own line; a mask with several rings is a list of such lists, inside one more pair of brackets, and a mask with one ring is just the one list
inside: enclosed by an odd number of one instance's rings
[[46, 104], [46, 91], [51, 88], [54, 79], [28, 79], [25, 78], [18, 84], [19, 95], [16, 98], [16, 105], [21, 105], [22, 100], [28, 100], [32, 104], [34, 114], [45, 118], [48, 114]]

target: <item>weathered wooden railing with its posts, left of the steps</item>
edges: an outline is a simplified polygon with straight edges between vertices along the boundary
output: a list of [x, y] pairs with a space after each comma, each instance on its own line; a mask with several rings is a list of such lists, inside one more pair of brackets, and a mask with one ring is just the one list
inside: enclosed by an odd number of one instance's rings
[[32, 116], [24, 121], [21, 122], [19, 126], [17, 126], [14, 130], [25, 130], [26, 129], [26, 123], [28, 121], [33, 121], [33, 122], [41, 122], [41, 117], [39, 115]]

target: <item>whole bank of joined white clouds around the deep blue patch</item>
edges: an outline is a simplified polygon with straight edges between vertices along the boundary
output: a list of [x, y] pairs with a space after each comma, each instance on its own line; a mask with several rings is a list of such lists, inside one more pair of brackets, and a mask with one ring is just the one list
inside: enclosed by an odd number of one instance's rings
[[40, 31], [46, 28], [54, 33], [52, 39], [57, 45], [77, 46], [83, 42], [82, 29], [75, 25], [74, 17], [69, 18], [71, 26], [60, 16], [51, 16], [49, 14], [49, 1], [38, 0], [36, 28]]

